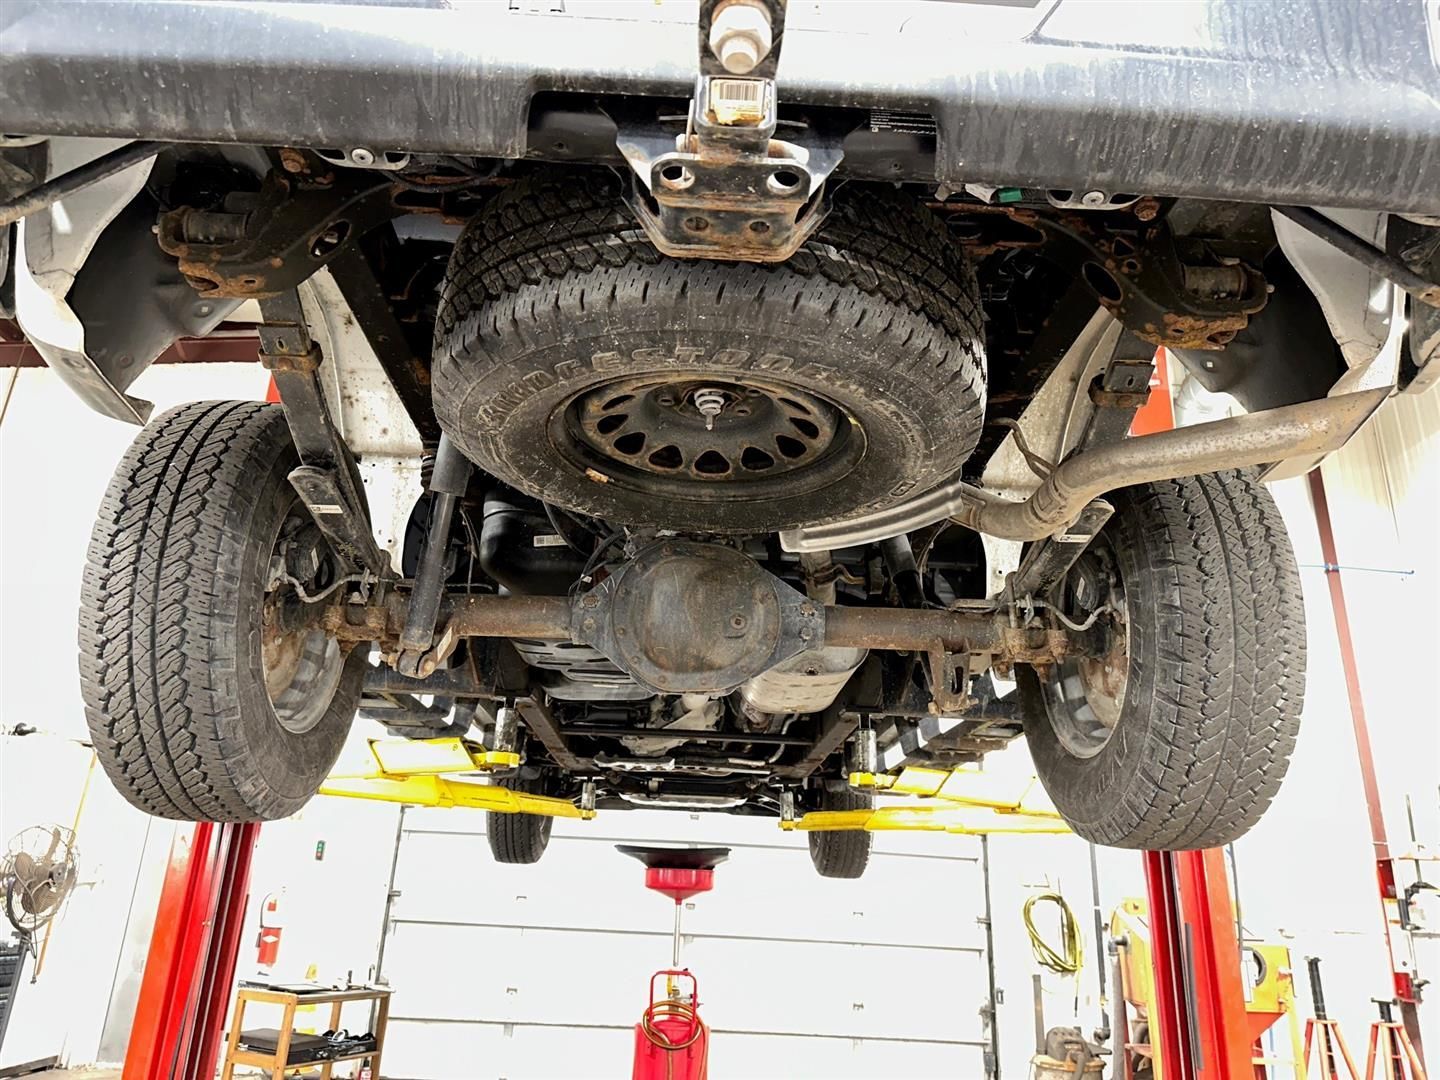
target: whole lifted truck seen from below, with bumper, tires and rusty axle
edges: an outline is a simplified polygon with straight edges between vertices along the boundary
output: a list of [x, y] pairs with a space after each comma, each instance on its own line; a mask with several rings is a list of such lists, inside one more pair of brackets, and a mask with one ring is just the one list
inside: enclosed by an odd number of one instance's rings
[[[359, 711], [783, 816], [1024, 734], [1090, 840], [1244, 832], [1303, 691], [1261, 481], [1440, 370], [1426, 4], [1384, 63], [1338, 4], [572, 7], [0, 12], [0, 307], [148, 422], [81, 619], [121, 791], [289, 814]], [[236, 338], [282, 405], [131, 392]], [[1128, 438], [1158, 350], [1230, 415]]]

